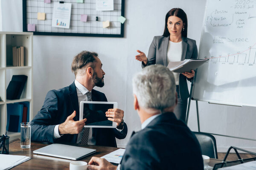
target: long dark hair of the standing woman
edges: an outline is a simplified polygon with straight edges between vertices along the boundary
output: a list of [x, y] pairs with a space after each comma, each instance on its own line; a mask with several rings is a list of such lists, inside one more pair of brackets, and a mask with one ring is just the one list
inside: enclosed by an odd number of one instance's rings
[[186, 13], [182, 9], [180, 9], [180, 8], [172, 8], [169, 12], [167, 12], [165, 26], [164, 26], [164, 31], [163, 31], [163, 36], [164, 37], [169, 37], [169, 35], [170, 35], [170, 33], [168, 31], [168, 28], [167, 28], [167, 21], [168, 21], [168, 18], [170, 16], [179, 17], [183, 21], [184, 31], [182, 29], [181, 37], [187, 37], [187, 33], [188, 33], [188, 19], [186, 17]]

